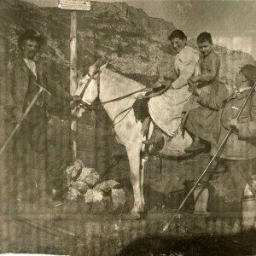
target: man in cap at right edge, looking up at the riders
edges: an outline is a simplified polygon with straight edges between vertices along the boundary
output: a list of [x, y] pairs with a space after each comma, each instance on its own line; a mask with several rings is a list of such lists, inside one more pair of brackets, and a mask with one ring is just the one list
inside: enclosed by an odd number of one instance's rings
[[247, 64], [241, 67], [236, 74], [237, 92], [230, 96], [222, 109], [219, 124], [214, 132], [215, 139], [212, 143], [212, 155], [215, 154], [220, 143], [230, 127], [233, 132], [230, 134], [223, 151], [219, 155], [219, 161], [226, 170], [230, 171], [231, 177], [236, 185], [239, 197], [243, 196], [246, 185], [255, 195], [256, 188], [253, 185], [253, 161], [256, 158], [256, 92], [253, 91], [240, 118], [236, 116], [245, 101], [248, 93], [256, 82], [256, 67]]

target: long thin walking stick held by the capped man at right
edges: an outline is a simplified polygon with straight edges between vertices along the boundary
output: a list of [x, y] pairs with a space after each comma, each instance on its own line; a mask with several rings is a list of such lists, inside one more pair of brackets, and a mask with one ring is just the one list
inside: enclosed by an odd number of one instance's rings
[[[243, 102], [239, 113], [236, 116], [236, 119], [239, 119], [242, 110], [244, 109], [244, 107], [247, 104], [248, 99], [250, 98], [250, 96], [253, 94], [253, 90], [256, 87], [256, 83], [253, 84], [253, 88], [250, 90], [249, 94], [247, 95], [247, 98], [245, 99], [245, 101]], [[194, 191], [195, 187], [197, 186], [198, 183], [200, 183], [201, 178], [205, 176], [205, 174], [207, 173], [208, 169], [210, 168], [210, 166], [212, 166], [212, 162], [217, 158], [219, 152], [224, 148], [224, 144], [227, 142], [228, 138], [230, 137], [230, 133], [232, 132], [232, 128], [230, 128], [230, 130], [228, 131], [228, 133], [226, 134], [226, 136], [224, 137], [224, 140], [222, 141], [222, 143], [220, 144], [217, 152], [213, 155], [212, 160], [209, 162], [209, 164], [207, 165], [207, 168], [204, 170], [204, 172], [201, 173], [201, 176], [197, 179], [197, 181], [195, 182], [194, 186], [192, 187], [192, 189], [190, 189], [189, 194], [184, 198], [183, 202], [181, 203], [181, 205], [177, 208], [177, 211], [174, 213], [174, 215], [172, 216], [172, 218], [170, 219], [170, 221], [166, 224], [166, 226], [164, 227], [164, 229], [162, 230], [162, 232], [165, 232], [170, 224], [172, 223], [172, 220], [177, 216], [177, 213], [181, 210], [181, 208], [183, 207], [184, 203], [188, 200], [189, 195], [192, 194], [192, 192]]]

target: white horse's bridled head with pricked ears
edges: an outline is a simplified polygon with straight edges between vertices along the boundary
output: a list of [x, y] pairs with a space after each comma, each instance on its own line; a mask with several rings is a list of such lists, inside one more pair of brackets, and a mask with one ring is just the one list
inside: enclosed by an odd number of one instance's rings
[[[79, 86], [75, 95], [82, 97], [82, 102], [86, 109], [86, 105], [92, 105], [100, 93], [99, 76], [102, 70], [108, 65], [108, 62], [103, 64], [102, 59], [96, 61], [89, 67], [89, 72], [82, 79], [79, 79]], [[83, 104], [82, 104], [83, 105]], [[84, 108], [76, 108], [72, 111], [76, 117], [81, 117], [84, 113]]]

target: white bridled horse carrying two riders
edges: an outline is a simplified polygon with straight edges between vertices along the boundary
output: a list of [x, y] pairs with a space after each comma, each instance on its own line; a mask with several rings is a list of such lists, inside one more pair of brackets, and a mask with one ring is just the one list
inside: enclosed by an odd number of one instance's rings
[[[139, 94], [144, 95], [148, 89], [143, 84], [127, 79], [108, 68], [102, 67], [102, 72], [97, 76], [100, 76], [100, 78], [95, 77], [90, 80], [89, 76], [86, 75], [83, 79], [80, 79], [76, 94], [84, 93], [83, 102], [88, 105], [93, 104], [96, 98], [99, 97], [103, 108], [108, 113], [109, 118], [112, 119], [117, 141], [125, 146], [128, 155], [134, 196], [134, 206], [131, 214], [138, 218], [140, 213], [144, 212], [145, 207], [143, 198], [145, 160], [142, 159], [142, 153], [145, 150], [143, 145], [145, 137], [143, 137], [142, 123], [136, 120], [132, 106], [137, 96]], [[80, 108], [76, 112], [77, 117], [80, 117], [83, 111]], [[182, 137], [179, 133], [171, 142], [173, 150], [169, 152], [169, 155], [181, 156], [185, 154], [184, 148], [189, 146], [191, 138], [188, 134]]]

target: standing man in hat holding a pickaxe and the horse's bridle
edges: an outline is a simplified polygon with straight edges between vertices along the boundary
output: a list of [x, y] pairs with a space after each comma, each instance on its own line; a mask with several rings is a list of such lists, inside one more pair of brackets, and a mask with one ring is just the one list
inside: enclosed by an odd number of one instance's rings
[[[17, 123], [20, 124], [20, 130], [16, 133], [10, 145], [12, 160], [9, 160], [11, 172], [14, 172], [15, 183], [13, 185], [16, 189], [15, 196], [18, 201], [26, 200], [26, 177], [28, 175], [32, 177], [32, 184], [37, 189], [41, 201], [46, 202], [48, 199], [46, 193], [47, 118], [44, 103], [45, 92], [39, 96], [30, 113], [26, 117], [23, 114], [39, 90], [36, 84], [40, 84], [46, 90], [49, 90], [53, 96], [57, 96], [66, 102], [79, 103], [80, 101], [79, 96], [71, 96], [56, 84], [49, 83], [42, 63], [36, 61], [36, 55], [38, 55], [38, 51], [43, 44], [44, 38], [34, 30], [26, 30], [20, 36], [18, 45], [21, 55], [12, 67], [9, 67], [9, 79], [6, 84], [4, 108], [7, 113], [7, 124], [11, 129]], [[26, 166], [28, 144], [32, 149], [29, 168]]]

